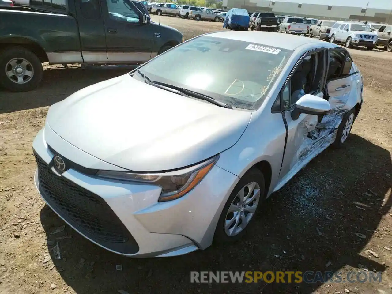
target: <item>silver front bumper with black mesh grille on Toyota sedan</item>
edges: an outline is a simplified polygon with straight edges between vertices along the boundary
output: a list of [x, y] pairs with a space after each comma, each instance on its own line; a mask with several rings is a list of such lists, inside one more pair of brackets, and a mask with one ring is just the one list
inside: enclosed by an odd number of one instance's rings
[[238, 177], [215, 165], [182, 198], [158, 202], [158, 186], [98, 178], [81, 172], [78, 165], [61, 176], [54, 173], [54, 153], [71, 162], [88, 163], [92, 157], [80, 149], [74, 149], [78, 153], [72, 157], [74, 152], [65, 149], [76, 147], [54, 136], [46, 125], [34, 139], [38, 165], [34, 181], [49, 207], [82, 236], [132, 257], [175, 256], [211, 245], [220, 212]]

